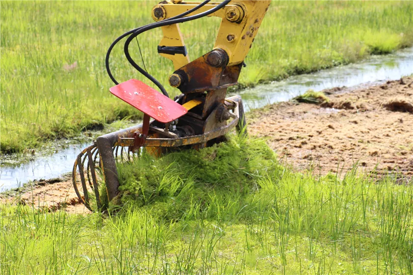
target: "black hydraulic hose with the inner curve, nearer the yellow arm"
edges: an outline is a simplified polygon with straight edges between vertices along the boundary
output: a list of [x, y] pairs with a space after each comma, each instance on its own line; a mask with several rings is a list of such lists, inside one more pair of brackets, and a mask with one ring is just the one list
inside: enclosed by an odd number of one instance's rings
[[167, 25], [172, 25], [172, 24], [177, 24], [177, 23], [183, 23], [183, 22], [188, 22], [188, 21], [192, 21], [201, 17], [205, 17], [207, 15], [210, 15], [214, 12], [216, 12], [217, 10], [223, 8], [226, 4], [228, 4], [231, 0], [224, 0], [223, 2], [221, 2], [219, 5], [217, 5], [214, 8], [211, 8], [207, 11], [204, 11], [202, 13], [196, 14], [196, 15], [192, 15], [192, 16], [188, 16], [185, 18], [176, 18], [176, 19], [169, 19], [169, 20], [164, 20], [164, 21], [160, 21], [160, 22], [156, 22], [156, 23], [152, 23], [143, 27], [138, 28], [137, 30], [134, 31], [133, 34], [131, 34], [128, 39], [125, 42], [125, 45], [123, 47], [123, 51], [125, 52], [125, 56], [128, 59], [129, 63], [131, 63], [131, 65], [137, 69], [141, 74], [143, 74], [145, 77], [147, 77], [148, 79], [150, 79], [153, 83], [155, 83], [162, 91], [162, 93], [166, 93], [165, 95], [167, 96], [167, 92], [164, 88], [164, 86], [159, 83], [158, 80], [156, 80], [153, 76], [151, 76], [150, 74], [148, 74], [147, 72], [145, 72], [145, 70], [143, 70], [141, 67], [139, 67], [139, 65], [132, 59], [131, 55], [129, 54], [129, 44], [131, 43], [131, 41], [138, 36], [139, 34], [141, 34], [142, 32], [145, 32], [147, 30], [156, 28], [156, 27], [163, 27], [163, 26], [167, 26]]

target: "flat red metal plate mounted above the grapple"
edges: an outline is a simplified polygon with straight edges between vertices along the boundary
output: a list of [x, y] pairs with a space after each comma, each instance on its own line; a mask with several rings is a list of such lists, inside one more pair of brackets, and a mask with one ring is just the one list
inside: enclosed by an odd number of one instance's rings
[[110, 92], [162, 123], [171, 122], [188, 112], [180, 104], [136, 79], [113, 86]]

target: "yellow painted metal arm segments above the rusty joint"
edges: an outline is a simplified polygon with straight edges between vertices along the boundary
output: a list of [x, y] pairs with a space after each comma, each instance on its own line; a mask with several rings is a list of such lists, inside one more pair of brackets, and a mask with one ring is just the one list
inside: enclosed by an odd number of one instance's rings
[[[222, 19], [214, 50], [222, 49], [226, 52], [228, 55], [226, 66], [234, 66], [244, 61], [270, 3], [271, 0], [233, 0], [209, 15]], [[165, 20], [198, 4], [200, 2], [166, 0], [153, 7], [152, 18], [155, 21]], [[190, 15], [202, 13], [218, 4], [220, 3], [210, 2]], [[190, 59], [178, 24], [162, 27], [162, 31], [164, 37], [158, 46], [159, 54], [171, 59], [175, 70], [188, 64]]]

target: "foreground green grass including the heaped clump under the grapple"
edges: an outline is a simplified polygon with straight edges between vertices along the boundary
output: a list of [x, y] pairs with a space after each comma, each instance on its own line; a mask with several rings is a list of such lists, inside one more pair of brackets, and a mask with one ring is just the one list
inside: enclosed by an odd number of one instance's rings
[[390, 176], [315, 178], [240, 137], [119, 173], [115, 215], [0, 204], [0, 274], [413, 273], [413, 186]]

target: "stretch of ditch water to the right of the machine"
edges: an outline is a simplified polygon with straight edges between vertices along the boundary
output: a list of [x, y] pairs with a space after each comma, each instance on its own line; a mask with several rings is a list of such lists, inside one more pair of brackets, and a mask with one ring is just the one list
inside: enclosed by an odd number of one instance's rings
[[322, 70], [313, 74], [257, 85], [240, 92], [246, 110], [288, 101], [308, 89], [320, 91], [333, 87], [356, 86], [384, 80], [400, 79], [413, 73], [413, 48], [391, 55], [372, 56], [369, 60]]

